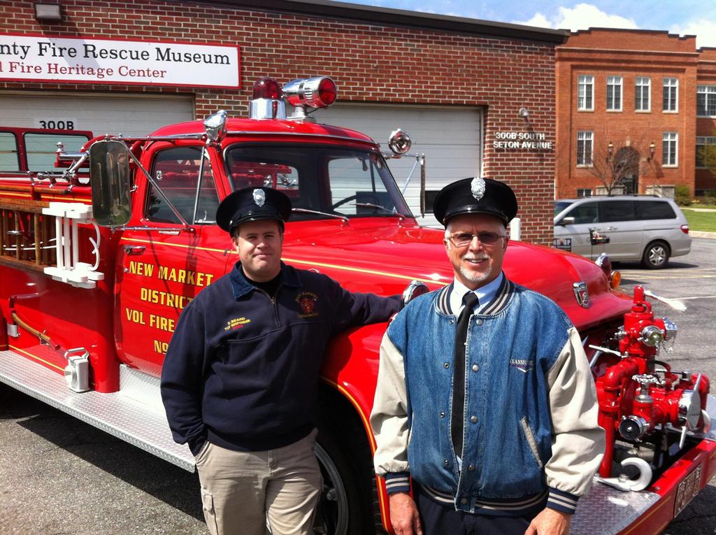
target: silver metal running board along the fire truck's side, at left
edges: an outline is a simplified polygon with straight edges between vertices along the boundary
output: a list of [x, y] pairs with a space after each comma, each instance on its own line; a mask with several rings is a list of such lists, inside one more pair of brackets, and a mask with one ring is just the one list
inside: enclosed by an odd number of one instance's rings
[[0, 351], [0, 382], [180, 468], [194, 471], [194, 456], [188, 446], [172, 439], [157, 377], [122, 365], [119, 392], [77, 393], [69, 390], [62, 375], [9, 350]]

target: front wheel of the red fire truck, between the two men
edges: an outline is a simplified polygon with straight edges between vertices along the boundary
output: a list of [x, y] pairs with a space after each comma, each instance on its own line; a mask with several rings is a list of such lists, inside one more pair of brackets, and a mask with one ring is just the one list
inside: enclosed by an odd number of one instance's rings
[[[319, 425], [316, 438], [316, 458], [323, 476], [323, 493], [316, 509], [314, 533], [326, 535], [374, 534], [372, 528], [371, 488], [372, 470], [365, 471], [350, 448], [340, 448], [337, 436], [357, 438], [365, 434], [338, 435], [337, 430]], [[351, 462], [348, 462], [351, 459]]]

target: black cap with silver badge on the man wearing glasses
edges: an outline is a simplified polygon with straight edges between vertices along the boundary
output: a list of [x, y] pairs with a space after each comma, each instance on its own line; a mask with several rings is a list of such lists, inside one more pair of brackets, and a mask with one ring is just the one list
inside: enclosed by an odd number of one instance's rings
[[510, 186], [498, 180], [463, 178], [437, 193], [432, 213], [445, 227], [450, 218], [463, 213], [486, 213], [507, 226], [517, 213], [517, 198]]

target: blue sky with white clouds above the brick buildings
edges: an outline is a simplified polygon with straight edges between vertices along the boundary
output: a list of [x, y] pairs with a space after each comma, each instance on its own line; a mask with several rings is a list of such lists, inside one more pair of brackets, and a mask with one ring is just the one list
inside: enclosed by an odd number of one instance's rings
[[668, 30], [716, 47], [716, 0], [340, 0], [487, 21], [576, 31], [593, 27]]

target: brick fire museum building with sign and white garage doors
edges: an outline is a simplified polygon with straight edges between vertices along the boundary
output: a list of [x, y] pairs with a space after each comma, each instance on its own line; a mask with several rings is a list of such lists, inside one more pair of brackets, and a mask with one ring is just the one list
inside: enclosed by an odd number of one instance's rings
[[[0, 125], [143, 135], [220, 108], [246, 115], [259, 77], [325, 74], [339, 102], [319, 121], [381, 143], [395, 127], [410, 132], [411, 152], [427, 157], [428, 208], [458, 178], [505, 180], [523, 206], [523, 239], [551, 241], [554, 54], [565, 32], [322, 0], [49, 2], [59, 20], [32, 1], [2, 8]], [[121, 52], [146, 42], [151, 54]], [[107, 75], [112, 65], [123, 79]], [[391, 161], [398, 183], [414, 161]], [[406, 192], [414, 211], [418, 184]]]

